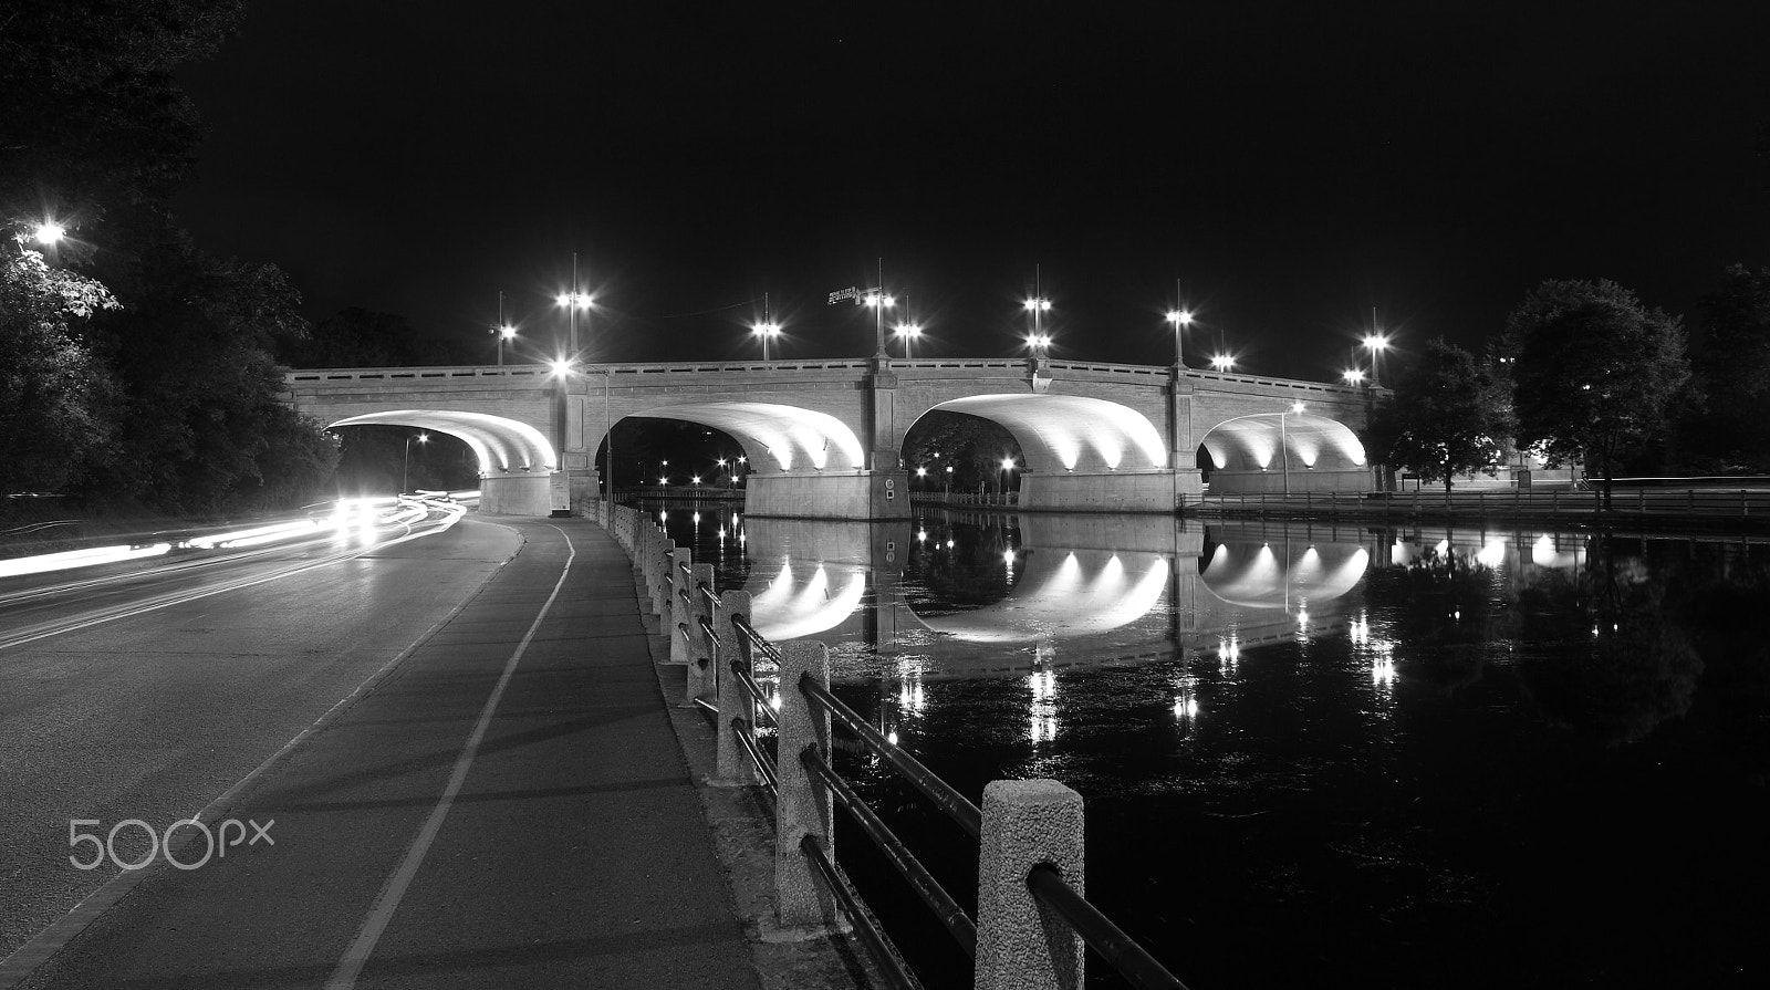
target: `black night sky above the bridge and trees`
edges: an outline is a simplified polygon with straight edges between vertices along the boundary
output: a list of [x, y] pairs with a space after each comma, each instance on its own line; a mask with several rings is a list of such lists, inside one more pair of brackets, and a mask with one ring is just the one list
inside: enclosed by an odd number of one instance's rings
[[1531, 7], [260, 0], [182, 73], [179, 211], [487, 361], [572, 251], [591, 360], [756, 356], [763, 290], [777, 356], [867, 354], [825, 294], [883, 257], [917, 356], [1020, 352], [1041, 264], [1053, 356], [1170, 360], [1181, 280], [1189, 363], [1312, 379], [1372, 306], [1474, 344], [1542, 278], [1687, 312], [1770, 264], [1763, 14]]

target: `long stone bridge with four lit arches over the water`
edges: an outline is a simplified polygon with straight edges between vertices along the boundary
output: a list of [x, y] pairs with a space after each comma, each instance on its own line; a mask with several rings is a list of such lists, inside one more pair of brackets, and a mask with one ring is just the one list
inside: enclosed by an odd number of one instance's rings
[[931, 409], [1020, 441], [1021, 508], [1174, 512], [1212, 492], [1365, 491], [1368, 388], [1150, 365], [1032, 358], [324, 368], [287, 400], [329, 427], [453, 434], [480, 457], [481, 508], [547, 514], [598, 496], [595, 453], [621, 420], [731, 434], [750, 515], [910, 515], [901, 450]]

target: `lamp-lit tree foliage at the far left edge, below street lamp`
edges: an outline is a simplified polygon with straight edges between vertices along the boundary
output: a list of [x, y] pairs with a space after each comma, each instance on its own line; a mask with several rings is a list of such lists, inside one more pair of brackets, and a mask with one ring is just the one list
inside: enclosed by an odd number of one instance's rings
[[110, 453], [117, 390], [81, 331], [115, 308], [35, 251], [0, 253], [0, 492], [62, 489]]

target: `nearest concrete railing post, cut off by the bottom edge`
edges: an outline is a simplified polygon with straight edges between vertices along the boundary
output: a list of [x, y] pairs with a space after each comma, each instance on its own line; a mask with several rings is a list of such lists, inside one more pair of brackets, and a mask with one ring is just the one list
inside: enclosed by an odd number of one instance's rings
[[1081, 795], [1057, 781], [984, 786], [975, 990], [1081, 986], [1081, 937], [1027, 889], [1027, 873], [1050, 862], [1078, 894], [1087, 893], [1081, 818]]

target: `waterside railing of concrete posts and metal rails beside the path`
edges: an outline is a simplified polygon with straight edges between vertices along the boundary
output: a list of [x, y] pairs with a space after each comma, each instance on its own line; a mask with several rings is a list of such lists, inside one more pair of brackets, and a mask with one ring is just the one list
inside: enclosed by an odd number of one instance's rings
[[[974, 960], [975, 988], [1081, 986], [1087, 946], [1131, 986], [1184, 990], [1083, 896], [1081, 795], [1050, 779], [991, 781], [979, 808], [830, 692], [823, 643], [770, 643], [750, 622], [749, 593], [719, 592], [713, 568], [689, 563], [687, 547], [674, 547], [655, 517], [616, 507], [609, 530], [634, 551], [639, 583], [662, 584], [660, 600], [671, 609], [664, 634], [681, 643], [685, 659], [680, 707], [697, 707], [715, 721], [712, 783], [759, 786], [773, 797], [775, 921], [782, 928], [851, 932], [890, 986], [920, 986], [837, 862], [834, 809], [841, 806]], [[832, 728], [977, 841], [975, 919], [834, 767]]]

